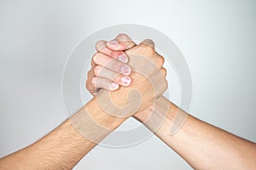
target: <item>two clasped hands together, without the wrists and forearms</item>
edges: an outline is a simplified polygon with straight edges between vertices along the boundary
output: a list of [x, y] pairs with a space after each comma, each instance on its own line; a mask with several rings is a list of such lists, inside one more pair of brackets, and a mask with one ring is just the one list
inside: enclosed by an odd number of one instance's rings
[[128, 118], [154, 107], [167, 88], [164, 58], [154, 42], [136, 44], [125, 34], [96, 42], [86, 88], [109, 115]]

